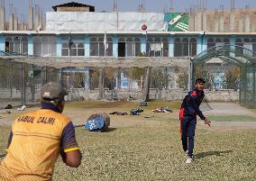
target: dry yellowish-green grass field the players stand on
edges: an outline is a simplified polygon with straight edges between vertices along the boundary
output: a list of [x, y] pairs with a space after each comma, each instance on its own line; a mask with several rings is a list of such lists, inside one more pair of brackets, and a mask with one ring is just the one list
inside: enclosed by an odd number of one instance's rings
[[[104, 107], [130, 109], [138, 103], [69, 103], [67, 110], [83, 108], [85, 112]], [[178, 111], [179, 103], [151, 103], [146, 111], [166, 106]], [[76, 107], [74, 107], [76, 106]], [[181, 149], [179, 122], [173, 114], [156, 114], [150, 119], [143, 116], [113, 116], [107, 132], [76, 128], [77, 140], [83, 152], [78, 168], [65, 166], [58, 160], [53, 180], [81, 181], [190, 181], [190, 180], [256, 180], [256, 129], [196, 132], [195, 162], [185, 164]], [[124, 119], [125, 118], [125, 119]], [[232, 119], [231, 119], [232, 118]], [[244, 119], [246, 118], [246, 119]], [[250, 116], [215, 115], [213, 122], [251, 122]], [[120, 122], [122, 124], [114, 124]], [[135, 122], [135, 123], [134, 123]], [[136, 124], [140, 122], [140, 124]], [[220, 122], [221, 123], [221, 122]], [[117, 126], [116, 126], [117, 125]], [[0, 126], [0, 138], [7, 140], [10, 127]], [[5, 152], [1, 147], [0, 155]]]

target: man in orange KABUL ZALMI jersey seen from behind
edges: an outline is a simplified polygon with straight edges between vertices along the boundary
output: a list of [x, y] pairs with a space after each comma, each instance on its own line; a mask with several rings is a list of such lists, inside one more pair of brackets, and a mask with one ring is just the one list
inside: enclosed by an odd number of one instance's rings
[[14, 121], [0, 180], [51, 180], [59, 154], [69, 167], [80, 165], [74, 126], [61, 114], [65, 95], [57, 83], [46, 84], [41, 88], [41, 109]]

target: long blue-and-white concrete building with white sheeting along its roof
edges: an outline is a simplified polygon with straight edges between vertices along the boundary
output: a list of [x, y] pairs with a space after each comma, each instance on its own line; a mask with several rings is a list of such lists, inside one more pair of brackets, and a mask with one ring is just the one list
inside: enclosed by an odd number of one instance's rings
[[[16, 30], [12, 24], [12, 31], [0, 31], [0, 50], [41, 58], [71, 56], [83, 60], [107, 57], [122, 58], [123, 61], [136, 60], [142, 53], [149, 53], [152, 58], [166, 61], [183, 59], [186, 66], [190, 58], [224, 44], [256, 51], [256, 32], [251, 24], [255, 19], [254, 10], [245, 15], [238, 15], [234, 10], [220, 14], [210, 11], [195, 14], [98, 13], [94, 6], [74, 2], [52, 8], [54, 12], [46, 13], [46, 30], [35, 30], [34, 18], [30, 17], [29, 29], [32, 31]], [[32, 9], [30, 14], [33, 14]], [[218, 17], [215, 20], [214, 14]], [[12, 16], [10, 21], [15, 23], [17, 20]], [[143, 24], [147, 25], [147, 31], [142, 30]], [[73, 42], [71, 49], [70, 38]], [[169, 74], [174, 74], [177, 67], [169, 66]], [[83, 72], [89, 74], [89, 68], [84, 68]], [[120, 87], [127, 87], [123, 72], [120, 77], [123, 78]]]

